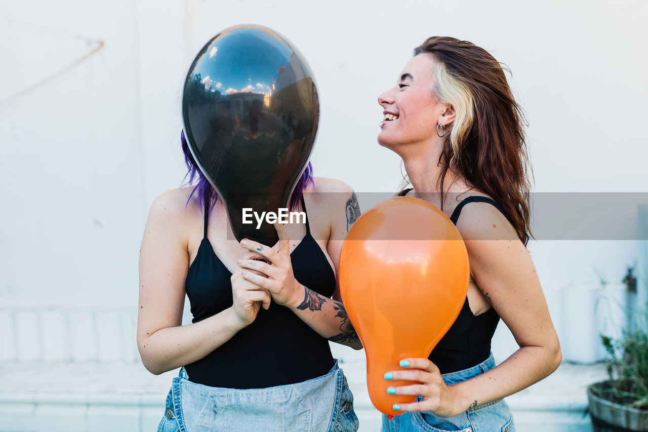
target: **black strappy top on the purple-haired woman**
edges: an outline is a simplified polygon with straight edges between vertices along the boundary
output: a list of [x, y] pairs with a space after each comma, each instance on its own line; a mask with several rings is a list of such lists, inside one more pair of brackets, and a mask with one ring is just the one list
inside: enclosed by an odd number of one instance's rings
[[[306, 212], [304, 198], [301, 206]], [[216, 315], [232, 306], [231, 273], [204, 237], [189, 267], [185, 291], [192, 322]], [[310, 234], [290, 254], [295, 279], [325, 298], [335, 289], [335, 274], [324, 252]], [[260, 389], [306, 381], [325, 375], [333, 366], [329, 341], [303, 322], [288, 307], [271, 302], [259, 309], [252, 324], [238, 331], [206, 357], [186, 365], [194, 383], [230, 389]]]

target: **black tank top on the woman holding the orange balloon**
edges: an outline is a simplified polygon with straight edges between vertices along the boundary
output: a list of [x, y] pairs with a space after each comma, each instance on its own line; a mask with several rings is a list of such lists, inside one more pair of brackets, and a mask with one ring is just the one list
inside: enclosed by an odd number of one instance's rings
[[[399, 195], [404, 196], [409, 191], [411, 189], [406, 189]], [[453, 224], [457, 224], [461, 209], [470, 202], [492, 204], [507, 217], [502, 208], [491, 198], [472, 196], [457, 204], [450, 216], [450, 221]], [[473, 315], [468, 303], [468, 297], [466, 297], [461, 311], [459, 311], [459, 316], [457, 316], [448, 333], [439, 341], [428, 358], [437, 365], [441, 374], [449, 374], [450, 372], [457, 372], [458, 370], [479, 365], [491, 354], [491, 339], [499, 321], [500, 316], [493, 307], [480, 315]]]

